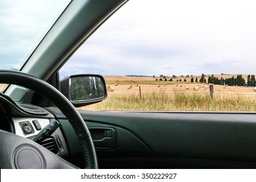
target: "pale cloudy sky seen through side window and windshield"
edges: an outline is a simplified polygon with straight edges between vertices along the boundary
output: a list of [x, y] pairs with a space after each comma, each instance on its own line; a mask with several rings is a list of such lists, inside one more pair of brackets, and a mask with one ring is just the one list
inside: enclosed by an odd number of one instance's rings
[[[14, 3], [8, 1], [11, 2]], [[31, 5], [33, 2], [35, 1], [31, 1]], [[0, 2], [0, 8], [3, 7], [2, 3]], [[40, 10], [47, 7], [40, 5]], [[55, 6], [51, 8], [54, 12]], [[61, 77], [77, 73], [149, 76], [201, 73], [256, 75], [255, 9], [256, 2], [249, 0], [130, 0], [68, 60], [60, 70]], [[33, 18], [27, 21], [27, 17], [35, 16], [40, 10], [0, 9], [1, 25], [8, 24], [0, 28], [0, 59], [9, 59], [8, 66], [17, 65], [16, 60], [25, 60], [27, 47], [33, 47], [31, 42], [38, 39], [38, 31], [46, 29], [46, 25], [42, 23], [36, 25], [35, 30], [24, 29], [23, 26], [35, 23]], [[10, 39], [17, 34], [17, 29], [12, 31], [10, 25], [12, 16], [19, 11], [20, 41], [17, 42], [16, 38]], [[45, 19], [50, 17], [42, 16], [42, 21]], [[35, 37], [26, 38], [23, 31], [31, 31], [29, 34], [35, 34]], [[33, 38], [33, 41], [23, 42], [24, 38]], [[1, 60], [0, 66], [3, 67]]]

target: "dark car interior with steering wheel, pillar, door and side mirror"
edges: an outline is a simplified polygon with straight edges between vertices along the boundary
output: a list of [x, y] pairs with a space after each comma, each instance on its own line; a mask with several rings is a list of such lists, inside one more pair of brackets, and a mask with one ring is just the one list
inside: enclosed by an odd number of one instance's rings
[[76, 109], [106, 81], [59, 70], [126, 3], [70, 1], [20, 70], [0, 70], [0, 168], [256, 168], [255, 112]]

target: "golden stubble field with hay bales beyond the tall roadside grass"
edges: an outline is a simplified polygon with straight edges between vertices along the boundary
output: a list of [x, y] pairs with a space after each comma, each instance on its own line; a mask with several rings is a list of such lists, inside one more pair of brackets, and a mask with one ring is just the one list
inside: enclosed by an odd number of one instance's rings
[[[217, 75], [218, 77], [229, 78], [232, 75]], [[224, 77], [225, 76], [225, 77]], [[235, 75], [236, 76], [236, 75]], [[198, 77], [198, 80], [201, 76]], [[160, 90], [165, 90], [167, 94], [173, 94], [176, 91], [182, 92], [202, 92], [202, 93], [210, 93], [209, 85], [205, 83], [190, 83], [190, 82], [177, 82], [177, 79], [181, 79], [181, 77], [177, 77], [173, 79], [175, 81], [156, 81], [156, 79], [160, 79], [159, 77], [128, 77], [128, 76], [105, 76], [106, 85], [112, 86], [113, 91], [108, 92], [108, 94], [145, 94], [150, 92], [159, 92]], [[247, 78], [247, 75], [244, 75], [244, 78]], [[190, 79], [187, 78], [187, 80]], [[168, 79], [169, 80], [169, 79]], [[184, 80], [184, 77], [183, 77]], [[247, 80], [246, 80], [247, 81]], [[128, 86], [132, 85], [131, 89], [128, 89]], [[141, 92], [139, 92], [139, 88]], [[242, 96], [249, 96], [256, 98], [256, 92], [252, 87], [246, 86], [223, 86], [223, 85], [214, 85], [214, 93], [222, 94], [222, 95], [230, 95], [230, 94], [239, 94]]]

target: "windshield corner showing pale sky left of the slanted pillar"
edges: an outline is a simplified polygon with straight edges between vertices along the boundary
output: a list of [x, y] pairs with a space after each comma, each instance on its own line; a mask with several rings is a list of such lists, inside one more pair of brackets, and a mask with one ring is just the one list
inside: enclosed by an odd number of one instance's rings
[[0, 2], [0, 68], [20, 70], [70, 0]]

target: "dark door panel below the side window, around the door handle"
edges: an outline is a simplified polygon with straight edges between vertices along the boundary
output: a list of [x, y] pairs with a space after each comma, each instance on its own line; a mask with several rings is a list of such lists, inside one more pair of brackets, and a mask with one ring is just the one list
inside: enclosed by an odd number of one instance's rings
[[253, 113], [79, 112], [116, 131], [116, 148], [97, 150], [103, 168], [256, 168]]

